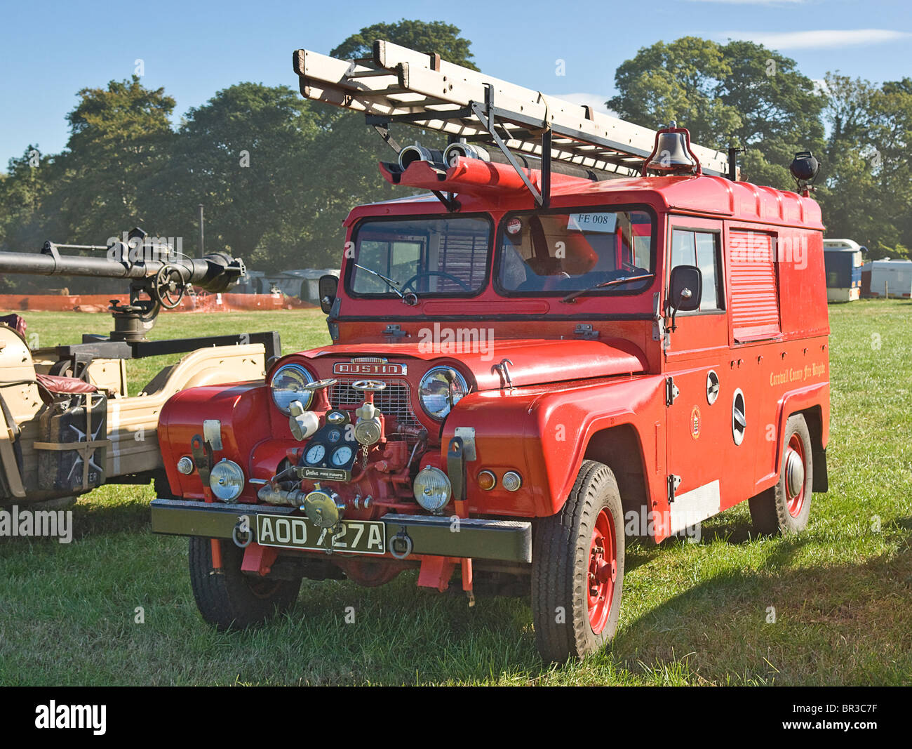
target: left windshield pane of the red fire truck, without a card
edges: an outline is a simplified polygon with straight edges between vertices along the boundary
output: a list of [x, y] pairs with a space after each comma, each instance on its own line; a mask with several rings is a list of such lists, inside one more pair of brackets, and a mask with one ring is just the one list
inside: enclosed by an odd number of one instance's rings
[[491, 221], [472, 216], [358, 224], [347, 289], [356, 296], [467, 296], [485, 284]]

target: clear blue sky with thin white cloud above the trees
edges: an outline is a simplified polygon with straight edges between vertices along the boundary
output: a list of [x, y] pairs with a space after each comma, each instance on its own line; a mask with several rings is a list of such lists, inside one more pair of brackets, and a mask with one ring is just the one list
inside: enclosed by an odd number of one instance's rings
[[[79, 88], [129, 78], [177, 99], [175, 120], [220, 88], [253, 80], [296, 87], [291, 53], [328, 52], [363, 26], [399, 18], [443, 20], [472, 40], [480, 68], [552, 95], [601, 104], [615, 68], [659, 39], [749, 38], [797, 60], [874, 81], [912, 76], [912, 11], [901, 0], [656, 0], [461, 2], [389, 0], [282, 3], [16, 3], [0, 10], [0, 168], [29, 143], [67, 141]], [[555, 75], [565, 61], [565, 76]]]

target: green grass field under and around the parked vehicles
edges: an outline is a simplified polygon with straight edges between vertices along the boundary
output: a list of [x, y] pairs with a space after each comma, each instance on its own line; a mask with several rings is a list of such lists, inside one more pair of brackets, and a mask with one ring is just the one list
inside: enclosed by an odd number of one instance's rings
[[[830, 492], [808, 529], [751, 538], [744, 504], [700, 544], [629, 546], [617, 637], [585, 663], [542, 665], [526, 601], [469, 609], [414, 573], [305, 581], [290, 615], [217, 633], [193, 603], [186, 539], [149, 532], [150, 487], [107, 486], [78, 502], [68, 546], [0, 539], [0, 684], [912, 684], [910, 317], [905, 301], [830, 307]], [[27, 319], [43, 346], [109, 329]], [[225, 329], [277, 329], [285, 352], [327, 340], [312, 311], [164, 315], [155, 336]]]

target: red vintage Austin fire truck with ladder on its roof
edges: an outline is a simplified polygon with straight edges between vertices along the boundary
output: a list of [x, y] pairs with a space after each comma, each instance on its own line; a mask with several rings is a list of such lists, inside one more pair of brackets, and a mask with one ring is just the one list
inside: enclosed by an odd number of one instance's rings
[[[305, 97], [366, 114], [413, 196], [348, 215], [331, 345], [162, 411], [181, 498], [152, 529], [190, 536], [203, 619], [260, 622], [303, 577], [417, 569], [471, 603], [531, 594], [543, 658], [565, 661], [617, 629], [626, 537], [744, 500], [760, 533], [807, 525], [829, 424], [810, 154], [781, 192], [673, 124], [437, 55], [294, 64]], [[448, 142], [400, 148], [391, 123]]]

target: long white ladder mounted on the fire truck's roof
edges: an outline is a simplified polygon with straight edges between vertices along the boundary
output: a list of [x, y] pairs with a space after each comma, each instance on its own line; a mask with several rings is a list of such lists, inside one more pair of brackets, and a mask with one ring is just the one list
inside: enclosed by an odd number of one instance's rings
[[[618, 176], [637, 176], [656, 140], [655, 130], [386, 41], [357, 60], [298, 49], [294, 67], [306, 99], [364, 112], [388, 140], [389, 123], [405, 122], [493, 143], [508, 159], [507, 150], [537, 158], [550, 151], [552, 161]], [[727, 153], [690, 148], [704, 173], [728, 176]]]

